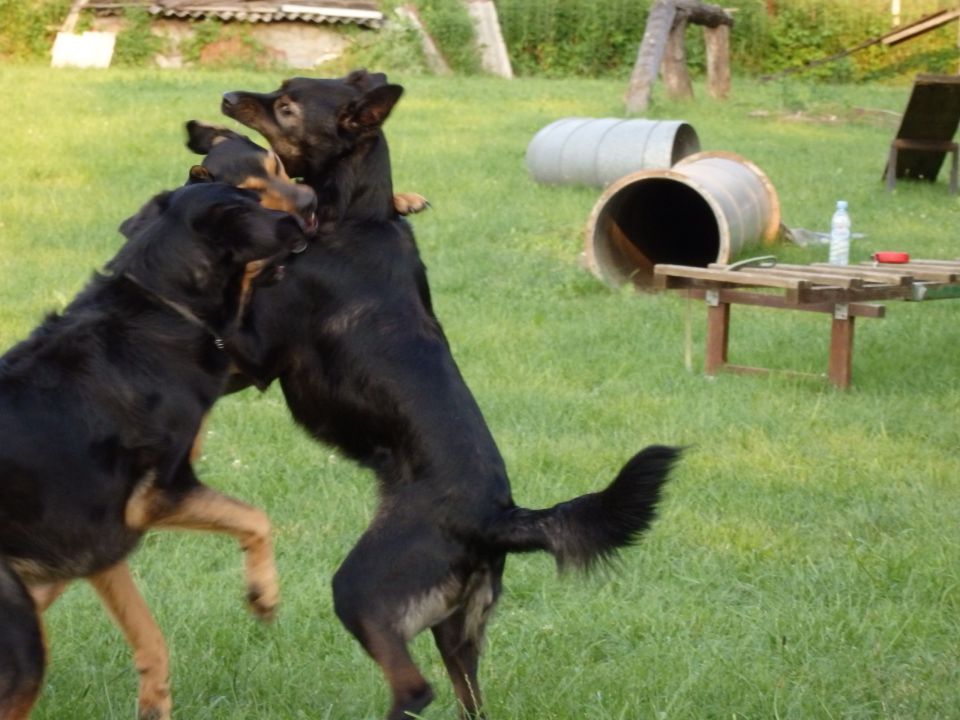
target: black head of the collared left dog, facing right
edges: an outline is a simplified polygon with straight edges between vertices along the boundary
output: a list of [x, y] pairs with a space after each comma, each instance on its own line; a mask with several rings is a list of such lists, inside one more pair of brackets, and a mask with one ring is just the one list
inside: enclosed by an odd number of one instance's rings
[[133, 275], [201, 316], [219, 315], [217, 308], [235, 316], [253, 277], [306, 245], [295, 216], [221, 182], [161, 193], [122, 229], [128, 242], [107, 269]]

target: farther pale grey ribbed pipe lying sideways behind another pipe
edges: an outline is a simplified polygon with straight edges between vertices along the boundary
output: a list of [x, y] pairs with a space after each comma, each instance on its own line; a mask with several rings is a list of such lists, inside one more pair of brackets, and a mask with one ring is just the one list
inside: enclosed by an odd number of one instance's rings
[[564, 118], [533, 136], [527, 169], [537, 182], [604, 186], [699, 150], [697, 133], [679, 120]]

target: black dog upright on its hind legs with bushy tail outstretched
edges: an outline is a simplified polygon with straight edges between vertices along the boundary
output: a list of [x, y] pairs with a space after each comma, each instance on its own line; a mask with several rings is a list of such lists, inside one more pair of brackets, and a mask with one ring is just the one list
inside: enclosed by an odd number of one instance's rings
[[392, 202], [381, 126], [401, 93], [358, 71], [224, 95], [223, 112], [262, 133], [320, 207], [320, 232], [285, 282], [255, 294], [241, 354], [259, 384], [279, 379], [301, 425], [377, 475], [376, 515], [333, 592], [338, 616], [390, 684], [388, 718], [431, 701], [407, 648], [426, 628], [473, 717], [507, 554], [544, 550], [562, 566], [589, 567], [631, 544], [653, 519], [679, 453], [648, 447], [605, 490], [550, 509], [514, 503]]

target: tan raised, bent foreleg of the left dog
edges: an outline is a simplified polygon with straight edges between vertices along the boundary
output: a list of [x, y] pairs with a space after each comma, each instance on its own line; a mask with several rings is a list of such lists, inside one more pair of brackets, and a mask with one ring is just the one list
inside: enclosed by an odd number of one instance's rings
[[262, 620], [273, 619], [280, 602], [270, 518], [252, 505], [196, 484], [186, 492], [167, 492], [144, 483], [127, 503], [127, 525], [135, 530], [173, 528], [223, 533], [243, 548], [247, 602]]

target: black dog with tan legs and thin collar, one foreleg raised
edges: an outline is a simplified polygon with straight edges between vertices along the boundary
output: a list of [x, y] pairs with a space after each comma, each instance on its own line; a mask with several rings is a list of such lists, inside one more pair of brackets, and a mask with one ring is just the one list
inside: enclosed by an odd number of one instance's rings
[[45, 666], [39, 613], [77, 578], [134, 646], [140, 717], [170, 716], [163, 637], [124, 563], [149, 528], [236, 537], [254, 612], [277, 602], [266, 515], [201, 484], [190, 452], [231, 366], [248, 266], [302, 246], [302, 224], [223, 183], [151, 203], [105, 272], [0, 358], [3, 720], [29, 715]]

